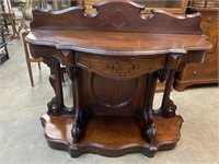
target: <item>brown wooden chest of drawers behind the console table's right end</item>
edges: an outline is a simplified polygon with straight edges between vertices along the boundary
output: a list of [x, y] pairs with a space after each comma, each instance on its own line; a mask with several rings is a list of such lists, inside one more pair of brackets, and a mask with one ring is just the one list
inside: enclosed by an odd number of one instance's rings
[[200, 12], [201, 27], [204, 34], [209, 37], [212, 48], [208, 50], [203, 65], [187, 63], [186, 67], [177, 73], [174, 89], [184, 91], [186, 86], [204, 83], [219, 82], [219, 54], [218, 54], [218, 34], [219, 34], [219, 1], [191, 1], [187, 13]]

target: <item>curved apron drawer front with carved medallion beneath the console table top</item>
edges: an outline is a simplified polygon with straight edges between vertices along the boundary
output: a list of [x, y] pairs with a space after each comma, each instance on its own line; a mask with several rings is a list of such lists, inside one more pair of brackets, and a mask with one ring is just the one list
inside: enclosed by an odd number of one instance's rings
[[105, 78], [132, 79], [154, 72], [164, 67], [165, 56], [140, 57], [102, 57], [76, 54], [76, 66]]

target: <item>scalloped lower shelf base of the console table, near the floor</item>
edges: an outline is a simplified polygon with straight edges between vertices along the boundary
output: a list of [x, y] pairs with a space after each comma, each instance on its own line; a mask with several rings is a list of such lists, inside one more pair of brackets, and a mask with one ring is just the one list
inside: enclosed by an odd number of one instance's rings
[[83, 153], [104, 156], [120, 156], [127, 153], [142, 153], [152, 157], [155, 152], [173, 149], [180, 140], [181, 116], [154, 117], [157, 139], [150, 144], [142, 139], [137, 119], [128, 116], [95, 116], [89, 119], [83, 139], [74, 144], [71, 137], [72, 116], [41, 117], [45, 137], [53, 149], [65, 150], [72, 157]]

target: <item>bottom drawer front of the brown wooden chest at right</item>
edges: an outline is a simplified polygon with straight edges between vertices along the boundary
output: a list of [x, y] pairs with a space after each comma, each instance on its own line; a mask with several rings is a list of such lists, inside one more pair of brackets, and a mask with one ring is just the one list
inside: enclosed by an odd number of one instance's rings
[[218, 63], [215, 65], [201, 65], [197, 67], [187, 66], [186, 68], [186, 80], [216, 80], [218, 79]]

